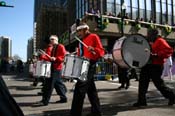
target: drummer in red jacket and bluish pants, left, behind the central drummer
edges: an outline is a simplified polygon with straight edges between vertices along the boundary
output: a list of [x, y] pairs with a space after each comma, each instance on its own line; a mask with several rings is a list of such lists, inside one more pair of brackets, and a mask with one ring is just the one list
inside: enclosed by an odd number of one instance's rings
[[52, 46], [46, 48], [47, 55], [41, 54], [40, 59], [51, 62], [51, 77], [45, 79], [42, 100], [39, 102], [40, 105], [48, 105], [53, 88], [56, 89], [57, 94], [60, 96], [60, 100], [56, 101], [56, 103], [67, 102], [67, 88], [61, 78], [66, 50], [62, 44], [58, 43], [58, 37], [56, 35], [51, 35], [49, 39]]

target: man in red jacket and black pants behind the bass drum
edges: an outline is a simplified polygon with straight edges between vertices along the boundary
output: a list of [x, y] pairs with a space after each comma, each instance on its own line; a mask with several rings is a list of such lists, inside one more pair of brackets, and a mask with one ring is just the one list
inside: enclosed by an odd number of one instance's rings
[[169, 99], [168, 105], [173, 105], [175, 103], [175, 93], [171, 88], [165, 85], [161, 78], [163, 63], [170, 55], [172, 55], [173, 49], [168, 45], [165, 39], [158, 36], [158, 31], [156, 29], [148, 33], [148, 41], [152, 48], [151, 58], [150, 62], [141, 69], [138, 101], [133, 106], [139, 107], [147, 105], [146, 93], [150, 79], [152, 79], [154, 85], [161, 94]]

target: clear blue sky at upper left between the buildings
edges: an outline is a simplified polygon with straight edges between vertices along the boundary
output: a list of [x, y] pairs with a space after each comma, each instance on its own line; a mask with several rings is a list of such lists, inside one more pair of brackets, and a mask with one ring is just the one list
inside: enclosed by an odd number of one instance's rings
[[0, 0], [11, 7], [0, 7], [0, 36], [12, 40], [12, 56], [27, 59], [27, 41], [33, 36], [34, 0]]

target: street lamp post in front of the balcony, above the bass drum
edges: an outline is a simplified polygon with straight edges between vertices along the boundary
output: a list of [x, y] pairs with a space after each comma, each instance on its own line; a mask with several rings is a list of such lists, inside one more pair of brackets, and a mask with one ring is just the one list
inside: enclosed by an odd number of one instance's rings
[[[123, 3], [122, 3], [123, 2]], [[126, 4], [123, 0], [121, 0], [121, 33], [122, 33], [122, 36], [124, 35], [124, 28], [123, 28], [123, 25], [124, 25], [124, 17], [125, 17], [125, 13], [126, 13]]]

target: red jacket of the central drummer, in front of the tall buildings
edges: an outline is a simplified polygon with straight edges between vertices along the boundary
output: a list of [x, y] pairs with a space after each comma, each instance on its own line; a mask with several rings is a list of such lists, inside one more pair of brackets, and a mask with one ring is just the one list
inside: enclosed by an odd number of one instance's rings
[[[104, 48], [101, 44], [100, 38], [96, 34], [89, 34], [83, 38], [83, 42], [87, 46], [92, 46], [94, 48], [95, 54], [89, 51], [85, 46], [83, 46], [83, 56], [92, 61], [97, 61], [99, 58], [103, 57], [105, 54]], [[78, 48], [78, 56], [80, 56], [80, 46]]]

